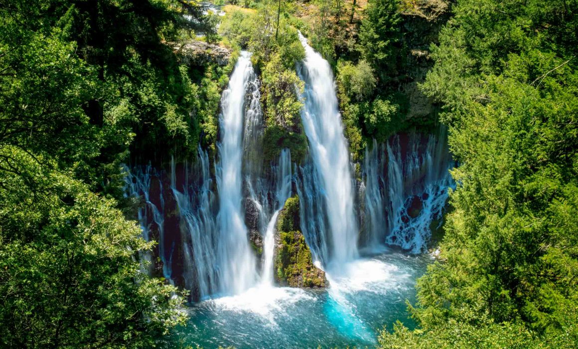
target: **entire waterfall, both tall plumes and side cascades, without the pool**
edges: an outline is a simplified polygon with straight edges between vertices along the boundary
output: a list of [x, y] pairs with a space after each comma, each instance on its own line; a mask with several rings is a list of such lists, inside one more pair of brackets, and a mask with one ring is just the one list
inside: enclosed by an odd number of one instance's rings
[[[150, 165], [125, 168], [127, 197], [143, 200], [136, 212], [143, 237], [158, 241], [158, 252], [141, 255], [150, 262], [143, 271], [160, 274], [153, 269], [160, 259], [162, 275], [189, 289], [194, 300], [250, 288], [271, 290], [276, 221], [292, 194], [292, 181], [313, 259], [336, 271], [334, 282], [351, 271], [336, 267], [357, 258], [358, 244], [371, 253], [386, 244], [424, 252], [434, 223], [441, 223], [447, 188], [455, 186], [445, 131], [373, 141], [355, 197], [331, 67], [300, 38], [306, 51], [297, 67], [305, 82], [301, 119], [309, 140], [302, 166], [292, 168], [288, 149], [271, 166], [264, 165], [260, 85], [250, 53], [242, 52], [221, 98], [214, 174], [209, 154], [200, 147], [190, 164], [172, 159], [170, 174]], [[262, 238], [261, 277], [249, 232], [252, 242]]]

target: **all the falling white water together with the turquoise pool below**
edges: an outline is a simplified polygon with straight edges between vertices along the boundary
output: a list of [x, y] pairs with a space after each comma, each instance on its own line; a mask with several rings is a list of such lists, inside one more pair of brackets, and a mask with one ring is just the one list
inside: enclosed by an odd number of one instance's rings
[[[302, 36], [301, 41], [306, 50], [298, 64], [306, 86], [301, 117], [310, 151], [295, 176], [288, 149], [271, 167], [263, 164], [259, 83], [246, 52], [221, 98], [214, 177], [209, 155], [200, 148], [190, 165], [173, 159], [170, 176], [150, 166], [135, 167], [127, 176], [127, 195], [146, 202], [138, 218], [144, 238], [158, 238], [164, 276], [190, 289], [194, 300], [223, 296], [195, 305], [194, 325], [179, 332], [180, 343], [184, 334], [189, 343], [208, 347], [267, 348], [273, 342], [314, 347], [321, 337], [331, 347], [371, 346], [373, 328], [406, 315], [399, 300], [412, 301], [413, 281], [431, 262], [427, 255], [399, 251], [358, 259], [357, 244], [371, 254], [383, 252], [386, 244], [424, 251], [432, 222], [442, 216], [447, 187], [454, 185], [445, 135], [410, 133], [382, 145], [374, 141], [354, 197], [331, 68]], [[327, 270], [330, 287], [323, 291], [273, 286], [276, 221], [294, 180], [301, 229], [314, 260]], [[252, 243], [255, 232], [263, 239], [261, 277], [248, 230]], [[143, 258], [157, 260], [157, 254]]]

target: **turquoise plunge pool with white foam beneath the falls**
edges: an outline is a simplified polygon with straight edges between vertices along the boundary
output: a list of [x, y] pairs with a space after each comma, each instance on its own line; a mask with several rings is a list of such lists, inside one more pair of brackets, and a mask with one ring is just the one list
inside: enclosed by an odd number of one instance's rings
[[331, 287], [302, 290], [259, 286], [242, 295], [207, 300], [188, 308], [187, 326], [164, 348], [373, 347], [377, 331], [397, 319], [413, 327], [405, 300], [430, 256], [399, 252], [360, 259], [328, 273]]

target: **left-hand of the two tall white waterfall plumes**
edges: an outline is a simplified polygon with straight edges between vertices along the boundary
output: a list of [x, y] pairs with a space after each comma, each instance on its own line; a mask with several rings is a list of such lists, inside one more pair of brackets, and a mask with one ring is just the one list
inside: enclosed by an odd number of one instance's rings
[[255, 258], [247, 239], [242, 211], [243, 115], [247, 86], [257, 77], [251, 55], [242, 52], [221, 98], [221, 137], [216, 164], [218, 280], [224, 293], [240, 293], [255, 284]]

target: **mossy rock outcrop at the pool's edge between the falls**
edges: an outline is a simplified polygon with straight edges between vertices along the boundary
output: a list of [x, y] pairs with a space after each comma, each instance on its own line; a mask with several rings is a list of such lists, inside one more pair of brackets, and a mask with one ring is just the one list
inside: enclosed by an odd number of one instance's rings
[[291, 197], [277, 219], [275, 280], [280, 285], [303, 288], [327, 286], [325, 272], [318, 269], [299, 226], [299, 198]]

